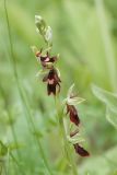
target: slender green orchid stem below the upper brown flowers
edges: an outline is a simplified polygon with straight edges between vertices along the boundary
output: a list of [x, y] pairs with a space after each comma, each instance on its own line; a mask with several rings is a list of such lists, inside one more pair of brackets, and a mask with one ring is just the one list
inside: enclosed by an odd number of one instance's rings
[[55, 103], [56, 103], [56, 109], [57, 109], [57, 117], [59, 120], [59, 130], [60, 130], [60, 135], [63, 139], [65, 149], [66, 149], [67, 156], [68, 156], [68, 162], [70, 162], [72, 175], [78, 175], [78, 170], [75, 166], [75, 162], [72, 158], [72, 152], [71, 152], [68, 139], [67, 139], [66, 129], [65, 129], [65, 125], [63, 125], [63, 109], [60, 106], [60, 101], [59, 101], [58, 96], [55, 97]]

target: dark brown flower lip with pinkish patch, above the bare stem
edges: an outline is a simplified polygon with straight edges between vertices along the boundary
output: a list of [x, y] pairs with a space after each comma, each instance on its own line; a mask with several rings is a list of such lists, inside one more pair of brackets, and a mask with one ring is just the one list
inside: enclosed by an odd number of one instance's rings
[[61, 80], [58, 77], [57, 70], [55, 68], [49, 70], [48, 74], [44, 77], [43, 81], [47, 82], [48, 95], [50, 94], [56, 95], [57, 93], [60, 92]]

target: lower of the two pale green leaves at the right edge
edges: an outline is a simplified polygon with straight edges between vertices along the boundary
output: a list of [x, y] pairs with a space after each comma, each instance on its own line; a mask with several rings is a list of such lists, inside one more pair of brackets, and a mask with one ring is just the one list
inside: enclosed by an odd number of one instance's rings
[[106, 109], [107, 120], [117, 129], [117, 113], [109, 107]]

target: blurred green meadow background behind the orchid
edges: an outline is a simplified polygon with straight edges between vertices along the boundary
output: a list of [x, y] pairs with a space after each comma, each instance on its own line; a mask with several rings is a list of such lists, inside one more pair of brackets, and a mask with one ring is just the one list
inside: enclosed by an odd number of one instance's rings
[[[34, 141], [35, 133], [28, 130], [31, 115], [55, 175], [72, 175], [61, 150], [55, 102], [47, 96], [46, 85], [35, 78], [40, 66], [31, 46], [45, 47], [35, 30], [34, 16], [39, 14], [52, 28], [52, 54], [60, 54], [61, 100], [72, 83], [86, 100], [78, 109], [91, 156], [74, 155], [79, 174], [117, 175], [117, 130], [106, 119], [105, 107], [108, 103], [117, 106], [117, 0], [9, 0], [7, 9], [19, 83], [13, 72], [4, 1], [1, 0], [0, 140], [14, 144], [16, 138], [20, 142], [20, 149], [13, 149], [20, 165], [10, 158], [9, 174], [22, 174], [21, 170], [26, 175], [48, 174]], [[110, 98], [106, 96], [107, 103], [98, 101], [98, 94], [95, 96], [92, 92], [92, 83], [115, 93], [115, 101], [110, 94]], [[102, 93], [103, 90], [100, 95]], [[100, 100], [105, 100], [103, 95]], [[0, 167], [2, 165], [0, 163]]]

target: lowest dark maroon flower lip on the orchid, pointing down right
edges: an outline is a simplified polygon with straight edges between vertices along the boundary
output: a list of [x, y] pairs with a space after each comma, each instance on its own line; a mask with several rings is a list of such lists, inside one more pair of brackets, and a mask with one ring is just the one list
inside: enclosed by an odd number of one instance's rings
[[79, 155], [81, 155], [81, 156], [89, 156], [90, 155], [90, 153], [86, 150], [84, 150], [79, 143], [75, 143], [73, 145], [74, 145], [75, 152]]

